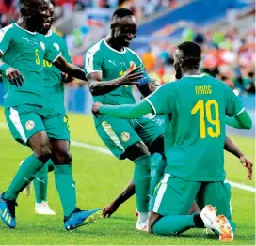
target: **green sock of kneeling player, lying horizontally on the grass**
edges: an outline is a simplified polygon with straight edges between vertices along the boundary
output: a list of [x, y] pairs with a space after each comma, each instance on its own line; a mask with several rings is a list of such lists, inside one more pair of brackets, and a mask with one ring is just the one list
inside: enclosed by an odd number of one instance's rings
[[194, 215], [167, 215], [152, 227], [153, 233], [158, 235], [178, 235], [195, 227]]

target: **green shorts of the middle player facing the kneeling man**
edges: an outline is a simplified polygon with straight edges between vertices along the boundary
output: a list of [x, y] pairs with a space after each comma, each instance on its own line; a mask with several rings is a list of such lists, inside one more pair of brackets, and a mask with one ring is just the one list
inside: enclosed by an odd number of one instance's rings
[[150, 146], [164, 133], [155, 122], [144, 117], [128, 120], [109, 116], [96, 129], [105, 146], [119, 159], [124, 158], [123, 153], [129, 146], [139, 141]]

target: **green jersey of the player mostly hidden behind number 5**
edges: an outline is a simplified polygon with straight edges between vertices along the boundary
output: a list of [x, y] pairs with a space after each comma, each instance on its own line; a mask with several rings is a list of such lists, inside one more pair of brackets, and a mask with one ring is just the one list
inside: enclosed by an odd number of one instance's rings
[[[45, 38], [50, 46], [55, 46], [56, 50], [60, 51], [62, 56], [68, 62], [72, 63], [71, 56], [63, 38], [52, 31], [50, 31]], [[64, 106], [65, 85], [62, 83], [61, 71], [47, 60], [43, 60], [43, 82], [49, 107], [60, 115], [66, 115]]]

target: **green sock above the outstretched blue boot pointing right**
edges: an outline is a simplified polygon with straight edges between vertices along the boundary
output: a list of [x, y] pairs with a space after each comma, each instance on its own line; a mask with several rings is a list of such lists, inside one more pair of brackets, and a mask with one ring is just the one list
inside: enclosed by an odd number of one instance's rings
[[55, 166], [56, 190], [64, 210], [69, 216], [76, 208], [75, 182], [72, 179], [72, 165]]

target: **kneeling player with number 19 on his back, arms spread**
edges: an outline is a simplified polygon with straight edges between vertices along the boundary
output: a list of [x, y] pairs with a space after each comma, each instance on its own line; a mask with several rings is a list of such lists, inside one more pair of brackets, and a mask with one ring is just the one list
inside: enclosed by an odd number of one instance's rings
[[[150, 232], [178, 235], [189, 228], [210, 228], [232, 241], [231, 189], [225, 182], [225, 115], [237, 128], [250, 129], [251, 118], [232, 89], [200, 74], [200, 46], [184, 42], [174, 54], [177, 82], [161, 86], [136, 105], [93, 105], [94, 114], [136, 118], [168, 115], [165, 149], [168, 166], [152, 198]], [[191, 127], [192, 126], [192, 127]], [[244, 162], [248, 179], [252, 164]], [[197, 199], [202, 211], [187, 215]]]

